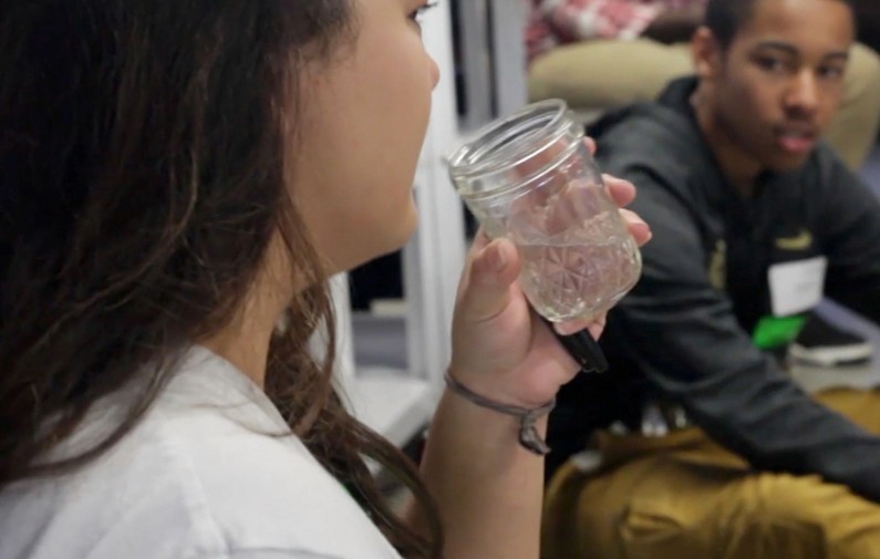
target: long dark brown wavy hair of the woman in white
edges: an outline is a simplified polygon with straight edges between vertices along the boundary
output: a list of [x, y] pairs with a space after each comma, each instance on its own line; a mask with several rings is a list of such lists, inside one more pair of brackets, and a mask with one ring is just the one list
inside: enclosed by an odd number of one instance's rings
[[[266, 391], [404, 556], [439, 556], [414, 466], [334, 393], [327, 275], [286, 178], [308, 142], [298, 72], [356, 37], [353, 12], [350, 0], [2, 3], [0, 490], [125, 436], [190, 341], [235, 318], [280, 230], [311, 287], [271, 343]], [[321, 324], [329, 352], [315, 360]], [[146, 387], [111, 436], [42, 459], [133, 382]], [[428, 536], [393, 514], [365, 457], [427, 507]]]

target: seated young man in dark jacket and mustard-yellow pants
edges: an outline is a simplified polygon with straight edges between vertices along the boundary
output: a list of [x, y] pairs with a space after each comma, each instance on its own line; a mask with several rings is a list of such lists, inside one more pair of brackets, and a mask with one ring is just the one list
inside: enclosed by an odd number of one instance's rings
[[853, 34], [845, 0], [710, 0], [696, 75], [591, 128], [654, 235], [609, 372], [551, 415], [550, 467], [597, 453], [550, 484], [546, 559], [880, 557], [880, 393], [774, 354], [824, 296], [880, 323], [880, 203], [820, 141]]

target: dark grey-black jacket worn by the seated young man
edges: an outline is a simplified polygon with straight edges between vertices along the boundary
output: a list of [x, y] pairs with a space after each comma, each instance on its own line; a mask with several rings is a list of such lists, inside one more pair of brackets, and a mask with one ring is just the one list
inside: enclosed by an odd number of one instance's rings
[[[642, 403], [659, 396], [757, 468], [819, 474], [880, 501], [880, 438], [814, 402], [752, 340], [770, 314], [769, 266], [820, 255], [826, 296], [880, 321], [880, 204], [825, 145], [799, 170], [768, 173], [754, 198], [739, 197], [696, 125], [695, 85], [675, 81], [658, 103], [590, 130], [602, 169], [636, 185], [632, 209], [654, 237], [642, 279], [609, 315], [610, 372], [580, 375], [560, 393], [556, 459], [593, 428], [638, 428]], [[780, 241], [805, 235], [808, 246]]]

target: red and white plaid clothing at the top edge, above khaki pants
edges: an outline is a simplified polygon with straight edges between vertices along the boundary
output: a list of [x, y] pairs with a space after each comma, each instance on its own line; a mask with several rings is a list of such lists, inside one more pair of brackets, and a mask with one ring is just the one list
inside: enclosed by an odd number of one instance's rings
[[587, 39], [635, 39], [665, 10], [706, 0], [526, 0], [529, 60], [553, 46]]

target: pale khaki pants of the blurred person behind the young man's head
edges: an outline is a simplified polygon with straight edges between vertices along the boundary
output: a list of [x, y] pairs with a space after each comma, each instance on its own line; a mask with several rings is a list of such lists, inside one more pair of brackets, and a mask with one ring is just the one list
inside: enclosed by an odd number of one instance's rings
[[[692, 70], [687, 44], [649, 40], [587, 41], [553, 49], [529, 69], [531, 101], [559, 97], [582, 112], [654, 99], [673, 77]], [[852, 49], [840, 108], [826, 139], [852, 169], [863, 163], [880, 125], [880, 58]]]

